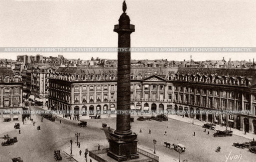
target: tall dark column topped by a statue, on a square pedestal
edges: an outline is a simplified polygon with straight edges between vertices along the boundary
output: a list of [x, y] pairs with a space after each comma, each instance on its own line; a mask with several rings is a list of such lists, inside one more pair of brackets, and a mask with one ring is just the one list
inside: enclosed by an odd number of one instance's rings
[[[126, 3], [122, 3], [123, 13], [119, 23], [114, 25], [114, 31], [118, 33], [118, 48], [131, 47], [131, 33], [135, 26], [130, 24], [130, 18], [125, 13]], [[139, 158], [137, 153], [137, 134], [130, 129], [131, 110], [131, 52], [118, 51], [117, 64], [117, 114], [116, 130], [110, 133], [108, 156], [123, 161]]]

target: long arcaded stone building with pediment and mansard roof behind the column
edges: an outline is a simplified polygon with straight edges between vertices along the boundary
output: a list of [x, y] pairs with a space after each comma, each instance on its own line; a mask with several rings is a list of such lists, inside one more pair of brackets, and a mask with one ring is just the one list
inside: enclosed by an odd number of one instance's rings
[[[77, 115], [108, 113], [116, 107], [116, 79], [115, 67], [60, 67], [49, 78], [49, 104]], [[254, 69], [133, 67], [131, 109], [175, 113], [255, 133], [255, 85]]]

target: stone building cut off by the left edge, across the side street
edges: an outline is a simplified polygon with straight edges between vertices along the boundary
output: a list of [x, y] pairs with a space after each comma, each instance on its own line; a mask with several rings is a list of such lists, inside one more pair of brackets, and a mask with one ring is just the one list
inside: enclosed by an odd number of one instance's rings
[[0, 122], [20, 120], [23, 82], [11, 67], [0, 67]]

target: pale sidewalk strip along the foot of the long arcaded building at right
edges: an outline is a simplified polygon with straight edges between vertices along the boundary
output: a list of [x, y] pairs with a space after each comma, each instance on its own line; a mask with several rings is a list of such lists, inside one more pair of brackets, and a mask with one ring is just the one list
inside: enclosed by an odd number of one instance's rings
[[[176, 114], [168, 114], [168, 118], [171, 118], [171, 119], [175, 119], [175, 120], [179, 120], [179, 121], [183, 121], [183, 122], [187, 122], [187, 123], [191, 123], [192, 124], [192, 118], [188, 118], [188, 117], [182, 117], [180, 115], [176, 115]], [[203, 126], [203, 124], [205, 123], [209, 123], [209, 122], [206, 122], [206, 121], [200, 121], [198, 119], [194, 119], [194, 124], [195, 125], [199, 125], [199, 126]], [[218, 125], [216, 124], [215, 128], [217, 130], [225, 130], [226, 129], [226, 126], [221, 126], [221, 125]], [[227, 127], [228, 130], [230, 130], [230, 127]], [[234, 129], [234, 128], [231, 128], [231, 130], [233, 131], [233, 134], [235, 135], [239, 135], [239, 136], [242, 136], [242, 137], [245, 137], [245, 138], [248, 138], [248, 139], [256, 139], [256, 134], [251, 134], [251, 133], [246, 133], [244, 134], [243, 131], [241, 130], [237, 130], [237, 129]]]

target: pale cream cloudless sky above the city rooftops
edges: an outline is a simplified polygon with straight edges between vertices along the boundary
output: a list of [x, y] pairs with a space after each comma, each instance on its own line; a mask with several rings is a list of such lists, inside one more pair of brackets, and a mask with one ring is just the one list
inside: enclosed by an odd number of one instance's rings
[[[126, 0], [134, 47], [253, 47], [255, 0]], [[122, 0], [0, 0], [2, 47], [114, 47]], [[117, 53], [42, 54], [116, 59]], [[132, 59], [249, 60], [255, 53], [132, 53]]]

